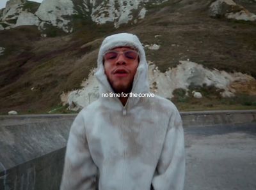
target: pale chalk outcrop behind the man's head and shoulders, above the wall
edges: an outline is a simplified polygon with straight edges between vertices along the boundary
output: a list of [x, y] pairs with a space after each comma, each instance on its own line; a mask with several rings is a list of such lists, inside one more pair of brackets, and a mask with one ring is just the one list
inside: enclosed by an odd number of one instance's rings
[[[70, 110], [79, 110], [99, 98], [99, 84], [93, 76], [92, 70], [88, 79], [82, 83], [82, 89], [63, 93], [61, 101], [68, 104]], [[188, 91], [191, 84], [195, 86], [214, 86], [221, 89], [220, 96], [223, 98], [233, 97], [236, 89], [232, 84], [237, 81], [256, 82], [255, 78], [243, 73], [227, 73], [217, 69], [207, 69], [200, 64], [190, 61], [180, 61], [180, 64], [165, 73], [159, 71], [152, 62], [148, 69], [150, 91], [164, 98], [172, 98], [175, 89]], [[200, 92], [194, 92], [195, 98], [202, 98]]]

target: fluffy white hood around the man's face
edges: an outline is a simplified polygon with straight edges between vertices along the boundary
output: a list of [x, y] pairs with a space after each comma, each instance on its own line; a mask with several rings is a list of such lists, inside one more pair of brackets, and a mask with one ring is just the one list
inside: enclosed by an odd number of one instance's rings
[[[133, 84], [132, 84], [132, 91], [133, 93], [140, 94], [140, 93], [148, 93], [149, 92], [149, 85], [148, 85], [148, 64], [146, 60], [146, 55], [143, 46], [140, 43], [138, 37], [134, 34], [129, 33], [120, 33], [120, 34], [113, 34], [108, 36], [102, 41], [102, 44], [99, 49], [99, 55], [97, 59], [97, 71], [95, 73], [95, 77], [100, 83], [99, 89], [99, 97], [103, 102], [118, 102], [122, 106], [121, 101], [118, 98], [102, 98], [102, 93], [109, 93], [113, 92], [111, 85], [108, 82], [106, 74], [104, 72], [104, 65], [103, 65], [103, 57], [104, 54], [115, 47], [133, 47], [138, 50], [140, 56], [140, 62], [136, 71], [136, 75], [134, 76]], [[136, 97], [129, 97], [125, 107], [134, 106], [141, 98]]]

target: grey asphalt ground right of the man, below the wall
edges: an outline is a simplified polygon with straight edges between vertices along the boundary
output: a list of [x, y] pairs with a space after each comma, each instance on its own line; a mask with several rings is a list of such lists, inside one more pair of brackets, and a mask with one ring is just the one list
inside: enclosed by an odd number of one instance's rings
[[184, 128], [184, 190], [255, 190], [256, 123]]

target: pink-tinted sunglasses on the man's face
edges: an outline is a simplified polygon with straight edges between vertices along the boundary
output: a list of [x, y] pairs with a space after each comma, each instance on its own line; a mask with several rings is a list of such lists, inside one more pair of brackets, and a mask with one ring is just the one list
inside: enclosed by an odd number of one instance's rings
[[129, 61], [135, 61], [136, 59], [138, 59], [138, 56], [139, 56], [138, 52], [133, 50], [127, 50], [125, 52], [117, 52], [115, 50], [111, 50], [109, 52], [106, 52], [106, 54], [104, 55], [104, 60], [116, 61], [121, 54], [123, 54], [125, 59]]

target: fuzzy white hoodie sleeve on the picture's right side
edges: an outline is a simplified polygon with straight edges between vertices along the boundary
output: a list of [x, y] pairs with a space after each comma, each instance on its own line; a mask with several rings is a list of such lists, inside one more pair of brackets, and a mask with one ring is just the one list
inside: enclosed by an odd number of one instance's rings
[[172, 114], [152, 179], [154, 190], [182, 190], [185, 178], [184, 131], [178, 110]]

